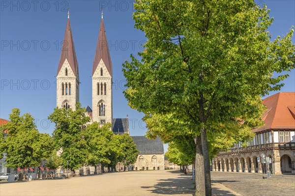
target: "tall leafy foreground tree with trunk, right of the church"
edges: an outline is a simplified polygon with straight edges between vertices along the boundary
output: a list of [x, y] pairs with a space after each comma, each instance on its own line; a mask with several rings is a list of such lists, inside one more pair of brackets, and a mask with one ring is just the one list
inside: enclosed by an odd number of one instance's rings
[[196, 195], [211, 196], [207, 135], [260, 117], [260, 96], [287, 78], [273, 73], [295, 67], [294, 29], [271, 41], [273, 19], [253, 0], [137, 0], [134, 7], [135, 27], [148, 40], [138, 59], [123, 64], [125, 97], [147, 115], [173, 113], [196, 132]]

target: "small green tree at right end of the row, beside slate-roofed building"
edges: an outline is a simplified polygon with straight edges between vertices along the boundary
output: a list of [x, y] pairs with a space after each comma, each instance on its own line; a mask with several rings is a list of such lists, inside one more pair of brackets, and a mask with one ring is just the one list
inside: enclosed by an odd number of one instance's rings
[[125, 167], [128, 167], [136, 162], [139, 151], [137, 150], [134, 141], [128, 134], [120, 135], [120, 149], [123, 152], [120, 161], [123, 162]]

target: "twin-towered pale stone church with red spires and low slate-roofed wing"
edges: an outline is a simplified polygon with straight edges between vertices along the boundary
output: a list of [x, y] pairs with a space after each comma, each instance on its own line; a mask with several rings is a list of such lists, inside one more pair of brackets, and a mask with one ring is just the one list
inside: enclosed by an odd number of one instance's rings
[[[64, 50], [61, 50], [57, 73], [57, 107], [64, 107], [67, 110], [75, 110], [75, 104], [79, 101], [79, 67], [75, 52], [73, 35], [68, 17], [65, 34]], [[86, 111], [91, 122], [97, 121], [101, 125], [112, 123], [114, 134], [129, 134], [128, 115], [126, 118], [113, 118], [113, 75], [112, 60], [109, 52], [107, 36], [104, 27], [103, 17], [99, 28], [96, 52], [92, 64], [92, 109], [88, 106]], [[132, 137], [140, 155], [137, 162], [125, 168], [125, 170], [150, 170], [164, 169], [163, 142], [148, 140], [145, 137]], [[122, 163], [116, 167], [118, 171], [124, 170]], [[100, 170], [100, 166], [98, 166]], [[94, 167], [82, 167], [76, 174], [94, 173]]]

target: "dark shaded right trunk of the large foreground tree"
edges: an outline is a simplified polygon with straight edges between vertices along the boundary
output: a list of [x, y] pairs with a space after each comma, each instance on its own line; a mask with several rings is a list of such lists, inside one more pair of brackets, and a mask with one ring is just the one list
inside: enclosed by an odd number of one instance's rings
[[207, 133], [204, 126], [201, 129], [201, 141], [202, 141], [202, 151], [203, 151], [203, 157], [204, 157], [206, 196], [211, 196], [212, 189], [211, 189], [209, 147], [208, 147], [208, 141], [207, 141]]

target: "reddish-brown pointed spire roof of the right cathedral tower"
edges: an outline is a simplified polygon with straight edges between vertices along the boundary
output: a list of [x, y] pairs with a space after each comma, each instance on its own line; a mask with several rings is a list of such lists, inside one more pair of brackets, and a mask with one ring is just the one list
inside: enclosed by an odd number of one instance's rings
[[107, 67], [110, 75], [112, 76], [112, 61], [107, 41], [107, 35], [104, 28], [103, 19], [101, 19], [99, 34], [98, 34], [98, 41], [96, 46], [95, 58], [93, 61], [93, 68], [92, 68], [92, 76], [97, 68], [100, 59], [103, 60], [104, 64]]

